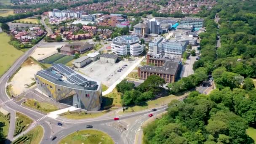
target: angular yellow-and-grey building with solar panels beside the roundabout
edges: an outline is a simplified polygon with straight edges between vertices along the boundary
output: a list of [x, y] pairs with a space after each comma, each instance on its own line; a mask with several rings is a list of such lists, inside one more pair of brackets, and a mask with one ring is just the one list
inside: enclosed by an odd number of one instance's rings
[[53, 64], [35, 74], [37, 88], [54, 101], [89, 111], [101, 108], [101, 82], [64, 64]]

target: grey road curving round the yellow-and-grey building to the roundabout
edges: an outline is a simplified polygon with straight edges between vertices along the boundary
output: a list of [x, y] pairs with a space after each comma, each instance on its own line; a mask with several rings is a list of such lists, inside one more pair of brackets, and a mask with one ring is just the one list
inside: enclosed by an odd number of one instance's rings
[[[106, 123], [112, 123], [113, 117], [98, 117], [98, 118], [90, 118], [86, 120], [65, 120], [62, 118], [52, 119], [50, 117], [47, 117], [46, 115], [43, 115], [39, 112], [35, 112], [31, 109], [27, 109], [25, 107], [21, 107], [20, 105], [13, 102], [9, 96], [6, 93], [6, 83], [8, 82], [8, 75], [13, 75], [14, 72], [21, 66], [21, 64], [29, 57], [29, 55], [37, 48], [38, 46], [42, 45], [43, 40], [41, 40], [37, 45], [32, 47], [29, 51], [25, 52], [14, 64], [13, 66], [8, 69], [5, 74], [0, 77], [0, 106], [3, 107], [5, 110], [11, 113], [11, 121], [10, 121], [10, 127], [8, 132], [8, 140], [13, 141], [13, 133], [15, 128], [15, 112], [21, 112], [24, 115], [27, 115], [28, 117], [32, 118], [34, 120], [34, 123], [29, 127], [33, 128], [35, 125], [42, 125], [44, 128], [44, 136], [42, 140], [42, 144], [53, 144], [57, 143], [61, 138], [64, 136], [67, 136], [68, 134], [75, 132], [77, 130], [85, 129], [85, 125], [93, 125], [95, 129], [98, 129], [100, 131], [104, 131], [108, 133], [112, 139], [115, 141], [116, 144], [133, 144], [133, 138], [130, 138], [130, 140], [126, 139], [126, 136], [122, 136], [119, 131], [117, 131], [115, 128], [112, 128]], [[165, 109], [167, 106], [163, 106], [157, 109], [157, 112], [159, 110]], [[150, 113], [151, 110], [146, 110], [142, 112], [134, 112], [130, 113], [128, 115], [122, 115], [120, 117], [120, 120], [124, 120], [131, 117], [137, 117], [141, 115], [146, 115]], [[57, 123], [61, 122], [63, 123], [63, 126], [58, 126]], [[53, 128], [54, 127], [54, 128]], [[58, 130], [58, 132], [54, 133], [53, 129]], [[27, 130], [28, 131], [28, 130]], [[22, 133], [24, 134], [24, 133]], [[57, 139], [54, 141], [51, 141], [51, 136], [57, 136]], [[16, 136], [17, 137], [17, 136]], [[10, 141], [6, 141], [6, 143], [10, 143]]]

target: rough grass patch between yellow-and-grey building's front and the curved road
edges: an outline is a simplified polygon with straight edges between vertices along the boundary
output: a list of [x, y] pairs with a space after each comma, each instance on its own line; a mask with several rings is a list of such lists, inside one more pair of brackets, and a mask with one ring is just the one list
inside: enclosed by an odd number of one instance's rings
[[47, 102], [38, 102], [35, 99], [27, 99], [25, 103], [23, 103], [27, 107], [31, 107], [33, 109], [37, 109], [41, 112], [53, 112], [58, 110], [58, 107], [55, 107], [53, 104], [47, 103]]

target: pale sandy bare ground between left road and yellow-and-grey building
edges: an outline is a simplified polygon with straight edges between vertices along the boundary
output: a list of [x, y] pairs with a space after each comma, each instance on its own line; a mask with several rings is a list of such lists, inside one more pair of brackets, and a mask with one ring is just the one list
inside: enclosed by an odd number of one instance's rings
[[42, 68], [31, 59], [28, 59], [21, 65], [21, 69], [13, 76], [12, 83], [12, 94], [17, 96], [24, 91], [27, 91], [28, 85], [34, 83], [34, 75], [37, 71]]

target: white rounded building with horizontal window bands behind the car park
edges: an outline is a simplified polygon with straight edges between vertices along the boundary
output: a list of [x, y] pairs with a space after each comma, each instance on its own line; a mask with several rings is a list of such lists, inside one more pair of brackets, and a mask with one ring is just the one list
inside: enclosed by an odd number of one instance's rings
[[139, 37], [125, 35], [115, 37], [111, 44], [111, 51], [120, 56], [139, 56], [144, 51], [144, 46], [139, 44]]

